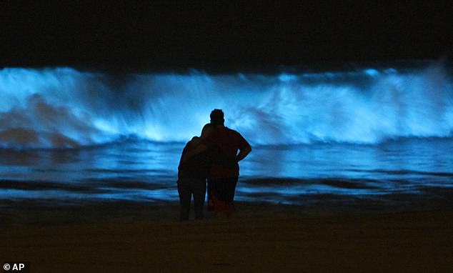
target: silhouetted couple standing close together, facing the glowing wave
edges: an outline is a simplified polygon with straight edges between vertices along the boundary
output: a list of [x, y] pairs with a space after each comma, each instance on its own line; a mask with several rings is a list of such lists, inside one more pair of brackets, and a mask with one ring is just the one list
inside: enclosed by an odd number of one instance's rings
[[[239, 178], [238, 162], [252, 147], [239, 132], [224, 126], [224, 112], [211, 111], [211, 122], [204, 125], [200, 137], [187, 142], [178, 166], [180, 220], [189, 219], [194, 196], [195, 219], [203, 219], [206, 179], [208, 211], [216, 218], [229, 218], [234, 212], [234, 192]], [[239, 154], [238, 154], [239, 151]]]

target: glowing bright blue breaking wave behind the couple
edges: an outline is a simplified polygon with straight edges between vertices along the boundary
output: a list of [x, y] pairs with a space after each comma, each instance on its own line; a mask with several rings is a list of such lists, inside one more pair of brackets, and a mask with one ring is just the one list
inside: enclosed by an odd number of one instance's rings
[[211, 109], [253, 144], [452, 137], [444, 66], [302, 74], [128, 74], [0, 70], [0, 146], [79, 147], [136, 135], [199, 134]]

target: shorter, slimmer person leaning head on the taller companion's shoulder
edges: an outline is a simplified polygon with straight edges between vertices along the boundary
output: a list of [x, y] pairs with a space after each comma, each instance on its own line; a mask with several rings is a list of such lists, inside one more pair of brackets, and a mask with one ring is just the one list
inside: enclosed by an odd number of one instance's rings
[[182, 151], [178, 166], [179, 219], [181, 221], [189, 220], [192, 195], [194, 196], [195, 219], [203, 219], [206, 177], [208, 176], [211, 159], [208, 151], [196, 154], [194, 157], [184, 160], [184, 162], [182, 159], [187, 152], [194, 150], [213, 129], [214, 126], [206, 124], [201, 131], [201, 137], [193, 137]]

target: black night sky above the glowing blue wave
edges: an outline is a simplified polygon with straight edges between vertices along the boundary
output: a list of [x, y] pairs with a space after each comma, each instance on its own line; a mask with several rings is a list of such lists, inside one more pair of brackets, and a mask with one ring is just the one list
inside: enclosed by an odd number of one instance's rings
[[448, 1], [66, 2], [1, 1], [0, 67], [263, 69], [453, 52]]

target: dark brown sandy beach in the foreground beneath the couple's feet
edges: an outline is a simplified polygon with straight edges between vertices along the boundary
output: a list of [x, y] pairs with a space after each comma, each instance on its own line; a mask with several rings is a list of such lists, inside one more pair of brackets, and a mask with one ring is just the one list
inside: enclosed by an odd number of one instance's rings
[[250, 203], [237, 209], [233, 219], [206, 214], [202, 221], [182, 223], [176, 204], [41, 208], [36, 215], [29, 208], [29, 215], [14, 221], [3, 212], [0, 259], [29, 262], [30, 272], [453, 269], [452, 209], [354, 211]]

